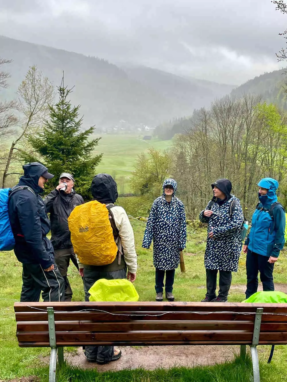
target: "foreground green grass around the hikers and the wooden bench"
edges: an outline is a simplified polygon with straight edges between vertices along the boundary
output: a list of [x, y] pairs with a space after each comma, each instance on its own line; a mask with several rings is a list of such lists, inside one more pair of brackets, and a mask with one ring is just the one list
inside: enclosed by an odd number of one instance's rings
[[[141, 248], [145, 223], [132, 219], [138, 254], [138, 272], [135, 281], [140, 301], [154, 301], [155, 270], [152, 265], [152, 249]], [[206, 230], [188, 226], [188, 242], [185, 253], [186, 273], [176, 270], [174, 295], [177, 301], [200, 301], [205, 295], [204, 249]], [[280, 254], [274, 268], [274, 281], [284, 284], [287, 274], [287, 251]], [[21, 264], [17, 261], [13, 251], [0, 252], [0, 380], [9, 380], [21, 376], [36, 375], [41, 382], [48, 381], [49, 368], [41, 364], [41, 356], [49, 354], [49, 348], [19, 348], [16, 339], [16, 323], [13, 303], [19, 301], [21, 291]], [[69, 280], [75, 301], [83, 301], [84, 293], [82, 280], [72, 265], [69, 268]], [[232, 288], [228, 301], [242, 301], [245, 298], [246, 274], [245, 254], [240, 258], [239, 270], [233, 274]], [[75, 351], [75, 348], [66, 348]], [[206, 348], [208, 352], [208, 347]], [[283, 382], [287, 375], [287, 347], [275, 346], [271, 364], [267, 364], [270, 346], [258, 346], [261, 382]], [[124, 355], [123, 355], [124, 356]], [[234, 361], [216, 364], [214, 366], [197, 366], [193, 369], [174, 367], [170, 370], [157, 369], [145, 371], [143, 369], [124, 370], [119, 372], [104, 372], [99, 374], [95, 369], [82, 370], [65, 365], [58, 372], [58, 380], [72, 381], [202, 381], [202, 382], [249, 382], [251, 375], [250, 360], [244, 363], [238, 358]]]

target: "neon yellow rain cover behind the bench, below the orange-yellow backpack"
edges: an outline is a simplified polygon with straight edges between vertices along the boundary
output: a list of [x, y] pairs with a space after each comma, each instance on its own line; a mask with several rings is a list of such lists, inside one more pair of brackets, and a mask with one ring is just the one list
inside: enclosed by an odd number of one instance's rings
[[138, 301], [134, 285], [126, 278], [97, 280], [90, 290], [90, 301]]

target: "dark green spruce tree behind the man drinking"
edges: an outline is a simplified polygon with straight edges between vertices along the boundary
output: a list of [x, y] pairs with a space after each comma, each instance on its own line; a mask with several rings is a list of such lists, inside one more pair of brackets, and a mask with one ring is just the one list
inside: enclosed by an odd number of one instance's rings
[[72, 89], [64, 87], [64, 79], [57, 90], [59, 101], [49, 105], [50, 118], [45, 120], [42, 132], [28, 138], [39, 158], [26, 153], [23, 159], [38, 160], [55, 175], [45, 188], [47, 192], [58, 184], [60, 173], [69, 172], [74, 176], [77, 193], [90, 199], [91, 180], [102, 157], [102, 154], [93, 155], [100, 138], [89, 139], [95, 126], [81, 131], [83, 117], [79, 118], [80, 105], [72, 107], [68, 100]]

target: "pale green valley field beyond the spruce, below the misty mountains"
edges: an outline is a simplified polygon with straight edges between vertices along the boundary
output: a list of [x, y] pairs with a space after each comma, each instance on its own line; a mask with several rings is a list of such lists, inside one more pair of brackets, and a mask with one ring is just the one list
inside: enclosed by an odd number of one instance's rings
[[[95, 154], [103, 153], [103, 159], [96, 171], [111, 174], [118, 184], [119, 194], [131, 192], [129, 179], [140, 153], [147, 152], [152, 147], [163, 151], [172, 146], [171, 140], [159, 141], [157, 138], [152, 138], [150, 141], [144, 141], [142, 134], [103, 134], [99, 136], [101, 139]], [[98, 136], [94, 138], [98, 138]]]

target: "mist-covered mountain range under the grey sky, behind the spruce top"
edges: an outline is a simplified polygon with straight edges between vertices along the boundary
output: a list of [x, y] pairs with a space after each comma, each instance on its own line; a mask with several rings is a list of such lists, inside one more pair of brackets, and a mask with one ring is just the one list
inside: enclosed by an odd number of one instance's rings
[[29, 66], [37, 65], [55, 86], [60, 84], [64, 70], [65, 86], [75, 86], [72, 103], [82, 105], [84, 126], [96, 124], [99, 130], [155, 126], [174, 117], [192, 115], [194, 108], [208, 106], [215, 97], [233, 88], [143, 66], [120, 68], [104, 59], [4, 36], [0, 36], [0, 56], [13, 60], [2, 67], [11, 78], [9, 88], [1, 91], [0, 97], [14, 97]]

